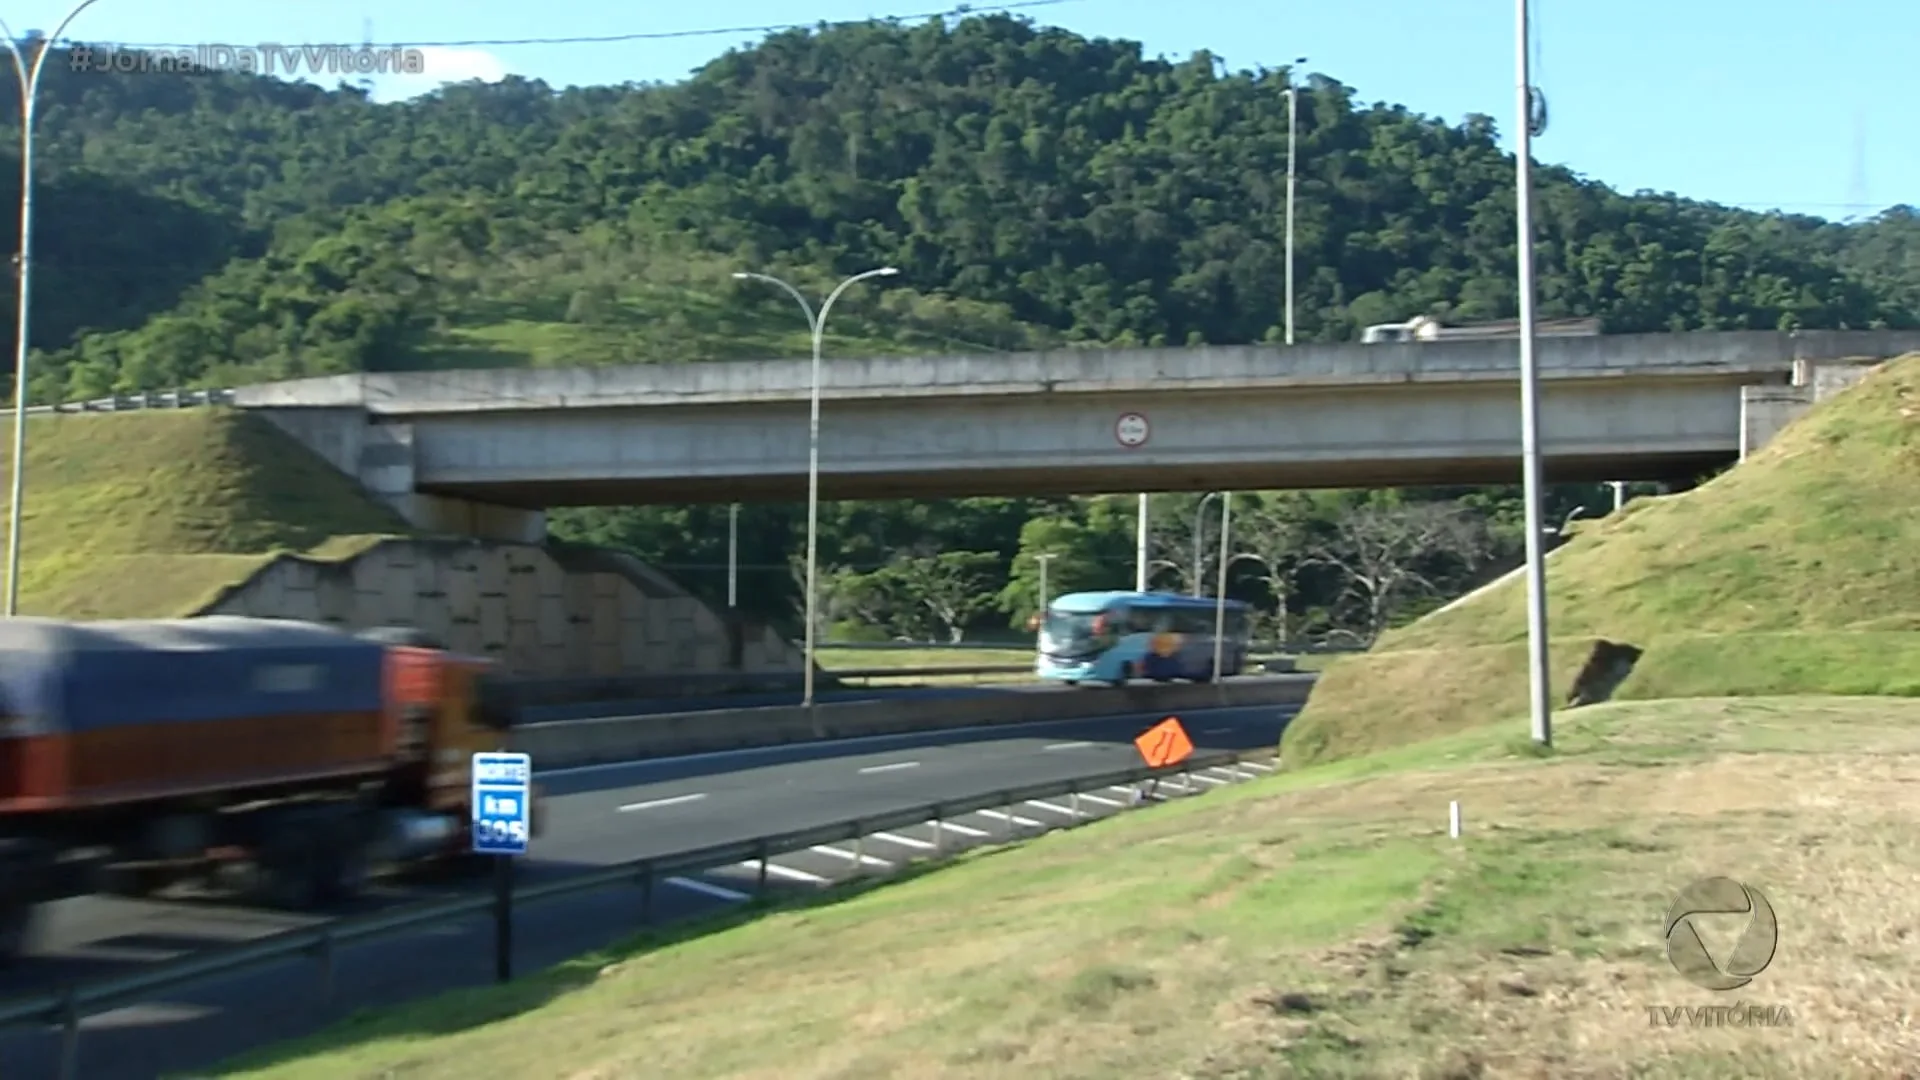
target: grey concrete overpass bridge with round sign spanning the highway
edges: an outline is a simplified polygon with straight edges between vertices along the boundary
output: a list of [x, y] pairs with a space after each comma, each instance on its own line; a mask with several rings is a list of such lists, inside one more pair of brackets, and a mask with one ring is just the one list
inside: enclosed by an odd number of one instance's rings
[[[1549, 480], [1697, 475], [1920, 332], [1544, 338]], [[1513, 340], [824, 363], [826, 500], [1519, 480]], [[1824, 375], [1818, 375], [1822, 373]], [[420, 527], [532, 540], [553, 505], [806, 492], [810, 361], [338, 375], [234, 404]]]

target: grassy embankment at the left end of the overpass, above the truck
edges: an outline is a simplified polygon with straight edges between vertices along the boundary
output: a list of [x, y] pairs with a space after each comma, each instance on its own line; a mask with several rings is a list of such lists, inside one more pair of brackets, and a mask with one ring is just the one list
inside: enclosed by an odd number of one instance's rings
[[276, 552], [407, 532], [319, 455], [232, 409], [31, 417], [21, 517], [21, 613], [67, 619], [186, 615]]

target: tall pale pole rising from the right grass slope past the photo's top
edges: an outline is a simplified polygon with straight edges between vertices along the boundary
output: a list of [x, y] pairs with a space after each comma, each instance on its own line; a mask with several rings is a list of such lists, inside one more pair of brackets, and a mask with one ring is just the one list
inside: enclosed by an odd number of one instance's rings
[[1546, 532], [1540, 521], [1540, 365], [1534, 357], [1534, 86], [1526, 63], [1528, 0], [1515, 0], [1515, 209], [1519, 219], [1521, 284], [1521, 479], [1526, 488], [1526, 682], [1534, 742], [1553, 746], [1553, 703], [1548, 690]]

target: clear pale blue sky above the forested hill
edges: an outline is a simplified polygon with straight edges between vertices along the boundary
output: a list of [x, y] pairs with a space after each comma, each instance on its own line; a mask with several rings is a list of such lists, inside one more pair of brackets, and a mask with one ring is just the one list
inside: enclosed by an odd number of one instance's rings
[[[10, 2], [15, 33], [50, 33], [73, 0]], [[69, 27], [96, 42], [453, 42], [685, 31], [914, 15], [941, 0], [98, 0]], [[975, 10], [991, 4], [977, 2]], [[1457, 121], [1484, 111], [1511, 127], [1511, 0], [1066, 0], [1025, 12], [1148, 54], [1212, 48], [1233, 67], [1308, 69]], [[1536, 156], [1624, 190], [1655, 188], [1755, 209], [1843, 219], [1920, 204], [1914, 0], [1536, 0], [1534, 81], [1551, 127]], [[503, 71], [570, 83], [674, 81], [756, 33], [609, 44], [495, 44], [428, 52], [424, 79], [394, 77], [382, 98], [438, 79]]]

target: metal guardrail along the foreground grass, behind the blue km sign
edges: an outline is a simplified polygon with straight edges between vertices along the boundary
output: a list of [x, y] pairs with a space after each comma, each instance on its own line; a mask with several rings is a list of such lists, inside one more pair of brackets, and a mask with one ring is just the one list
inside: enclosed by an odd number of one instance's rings
[[[267, 938], [259, 938], [255, 942], [244, 942], [240, 945], [207, 949], [204, 953], [196, 953], [186, 959], [154, 965], [113, 978], [79, 982], [48, 994], [0, 1001], [0, 1028], [31, 1026], [31, 1024], [46, 1024], [60, 1028], [61, 1032], [60, 1076], [61, 1080], [71, 1080], [79, 1074], [77, 1063], [79, 1063], [81, 1022], [86, 1017], [109, 1013], [113, 1009], [125, 1009], [156, 994], [173, 992], [196, 982], [205, 982], [211, 978], [273, 963], [284, 963], [290, 959], [311, 957], [319, 965], [317, 978], [321, 984], [321, 997], [324, 1001], [332, 997], [334, 990], [332, 988], [334, 959], [338, 951], [346, 945], [355, 945], [361, 942], [372, 942], [380, 938], [392, 938], [396, 934], [405, 934], [409, 930], [419, 930], [422, 926], [451, 922], [455, 919], [468, 919], [472, 915], [482, 915], [482, 913], [493, 913], [497, 922], [511, 920], [513, 905], [538, 903], [543, 899], [557, 899], [563, 896], [574, 896], [614, 886], [637, 886], [641, 890], [641, 919], [645, 920], [653, 915], [655, 886], [674, 874], [693, 874], [701, 871], [716, 871], [722, 867], [733, 867], [739, 863], [756, 861], [760, 865], [756, 888], [760, 894], [764, 894], [768, 882], [766, 865], [776, 855], [804, 851], [816, 844], [833, 844], [847, 840], [860, 842], [862, 838], [872, 836], [876, 832], [885, 832], [889, 828], [910, 828], [922, 822], [933, 822], [931, 857], [939, 859], [945, 853], [945, 830], [941, 828], [941, 824], [956, 817], [964, 817], [983, 809], [1002, 809], [1006, 813], [1012, 813], [1014, 805], [1023, 803], [1027, 799], [1044, 799], [1060, 796], [1073, 798], [1077, 803], [1077, 798], [1081, 794], [1091, 794], [1102, 788], [1123, 786], [1123, 784], [1167, 780], [1175, 776], [1183, 778], [1181, 786], [1187, 792], [1192, 792], [1194, 786], [1190, 780], [1187, 780], [1187, 776], [1192, 773], [1217, 769], [1223, 765], [1236, 765], [1240, 761], [1250, 761], [1250, 759], [1265, 759], [1265, 757], [1271, 757], [1269, 749], [1210, 753], [1204, 757], [1188, 757], [1179, 765], [1167, 765], [1160, 769], [1140, 765], [1133, 769], [1100, 773], [1092, 776], [1079, 776], [1071, 780], [1027, 784], [1021, 788], [1006, 788], [973, 798], [943, 799], [900, 811], [852, 817], [831, 824], [822, 824], [816, 828], [774, 832], [753, 840], [716, 844], [712, 847], [676, 851], [672, 855], [655, 855], [651, 859], [636, 859], [632, 863], [607, 867], [603, 871], [574, 874], [568, 878], [561, 878], [557, 882], [545, 882], [530, 888], [515, 888], [511, 894], [511, 901], [505, 907], [501, 907], [493, 896], [480, 894], [480, 896], [465, 896], [459, 899], [409, 905], [397, 911], [386, 911], [376, 915], [336, 919], [317, 926], [305, 926], [300, 930], [288, 930]], [[1008, 838], [1016, 836], [1020, 836], [1020, 826], [1008, 821]], [[503, 936], [495, 934], [495, 944], [501, 940]], [[509, 972], [507, 965], [497, 965], [497, 969], [503, 974]]]

